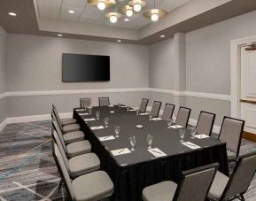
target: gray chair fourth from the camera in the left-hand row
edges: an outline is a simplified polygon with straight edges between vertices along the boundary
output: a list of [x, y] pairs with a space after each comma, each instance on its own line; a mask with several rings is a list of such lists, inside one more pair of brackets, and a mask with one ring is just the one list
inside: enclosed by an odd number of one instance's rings
[[63, 135], [64, 141], [66, 144], [75, 143], [75, 142], [84, 140], [84, 133], [82, 131], [74, 131], [74, 132], [63, 134], [54, 115], [52, 115], [51, 117], [52, 117], [52, 123], [54, 125], [54, 128], [58, 131], [59, 134]]

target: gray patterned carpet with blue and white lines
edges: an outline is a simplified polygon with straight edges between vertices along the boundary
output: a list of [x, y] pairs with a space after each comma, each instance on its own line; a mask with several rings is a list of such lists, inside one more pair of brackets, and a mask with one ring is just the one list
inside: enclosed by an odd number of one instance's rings
[[[241, 154], [256, 151], [256, 143], [242, 142]], [[8, 125], [0, 133], [0, 200], [64, 200], [58, 192], [57, 167], [51, 156], [50, 121]], [[245, 194], [256, 200], [256, 177]]]

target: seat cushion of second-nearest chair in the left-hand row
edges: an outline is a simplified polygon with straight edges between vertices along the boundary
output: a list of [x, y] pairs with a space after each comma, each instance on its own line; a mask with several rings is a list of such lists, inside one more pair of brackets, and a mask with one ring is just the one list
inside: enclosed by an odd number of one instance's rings
[[96, 171], [100, 167], [99, 158], [95, 153], [86, 153], [68, 160], [71, 176], [77, 177], [81, 174], [88, 174]]

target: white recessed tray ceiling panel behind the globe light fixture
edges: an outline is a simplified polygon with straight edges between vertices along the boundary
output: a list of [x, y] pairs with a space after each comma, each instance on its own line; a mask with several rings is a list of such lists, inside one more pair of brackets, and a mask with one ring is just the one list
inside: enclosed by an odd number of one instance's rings
[[[43, 19], [59, 19], [79, 22], [89, 22], [98, 25], [108, 25], [115, 27], [126, 27], [138, 29], [144, 27], [151, 22], [150, 19], [145, 19], [143, 12], [137, 13], [129, 21], [124, 21], [126, 16], [123, 14], [122, 18], [116, 23], [112, 24], [108, 19], [105, 19], [105, 12], [117, 12], [120, 7], [127, 4], [128, 0], [116, 0], [117, 5], [107, 10], [99, 11], [97, 7], [87, 4], [87, 0], [37, 0], [39, 18]], [[190, 0], [156, 0], [156, 7], [165, 9], [167, 12], [189, 2]], [[153, 8], [153, 0], [146, 0], [147, 6], [144, 8]], [[74, 14], [69, 13], [73, 10]]]

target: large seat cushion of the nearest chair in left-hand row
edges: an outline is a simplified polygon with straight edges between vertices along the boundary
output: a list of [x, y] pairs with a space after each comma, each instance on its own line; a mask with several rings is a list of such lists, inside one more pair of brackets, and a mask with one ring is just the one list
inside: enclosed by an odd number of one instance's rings
[[104, 171], [82, 175], [73, 182], [74, 199], [99, 200], [112, 196], [113, 183]]

